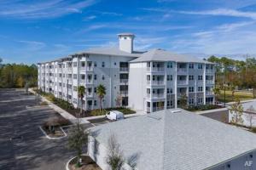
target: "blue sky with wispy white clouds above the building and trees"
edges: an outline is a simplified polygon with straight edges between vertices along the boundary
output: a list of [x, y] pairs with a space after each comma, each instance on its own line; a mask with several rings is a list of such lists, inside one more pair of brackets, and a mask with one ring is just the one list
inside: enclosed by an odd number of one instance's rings
[[135, 49], [256, 54], [255, 0], [0, 0], [0, 57], [37, 63], [136, 34]]

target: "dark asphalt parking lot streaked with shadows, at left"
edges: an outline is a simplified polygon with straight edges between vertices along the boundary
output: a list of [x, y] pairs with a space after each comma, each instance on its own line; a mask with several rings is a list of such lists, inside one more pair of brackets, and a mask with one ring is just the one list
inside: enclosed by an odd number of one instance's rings
[[26, 108], [35, 102], [23, 90], [0, 89], [0, 169], [63, 170], [74, 156], [66, 147], [67, 138], [44, 137], [38, 126], [55, 111], [48, 106]]

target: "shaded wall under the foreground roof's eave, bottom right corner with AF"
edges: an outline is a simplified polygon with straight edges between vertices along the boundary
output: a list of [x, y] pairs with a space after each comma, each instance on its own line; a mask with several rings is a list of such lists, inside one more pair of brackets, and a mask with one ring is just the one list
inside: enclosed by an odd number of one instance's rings
[[211, 170], [253, 170], [256, 169], [256, 151], [239, 156], [231, 161], [223, 163]]

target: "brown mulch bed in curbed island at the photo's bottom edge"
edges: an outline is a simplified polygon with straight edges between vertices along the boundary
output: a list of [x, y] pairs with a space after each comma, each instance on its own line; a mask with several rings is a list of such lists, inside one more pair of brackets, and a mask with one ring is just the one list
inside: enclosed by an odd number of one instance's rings
[[69, 162], [69, 169], [70, 170], [102, 170], [95, 161], [93, 161], [90, 156], [82, 156], [82, 166], [75, 167], [77, 163], [77, 158], [74, 158], [72, 161]]

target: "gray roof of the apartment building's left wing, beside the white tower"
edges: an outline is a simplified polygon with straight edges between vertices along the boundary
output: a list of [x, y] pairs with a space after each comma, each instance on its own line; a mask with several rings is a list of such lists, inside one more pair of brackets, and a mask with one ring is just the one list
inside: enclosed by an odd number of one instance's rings
[[77, 54], [105, 54], [105, 55], [116, 55], [116, 56], [128, 56], [128, 57], [140, 57], [143, 52], [134, 51], [133, 53], [127, 53], [119, 50], [118, 47], [112, 48], [91, 48], [86, 51], [79, 52]]

